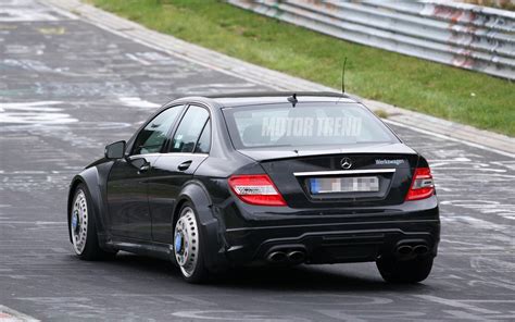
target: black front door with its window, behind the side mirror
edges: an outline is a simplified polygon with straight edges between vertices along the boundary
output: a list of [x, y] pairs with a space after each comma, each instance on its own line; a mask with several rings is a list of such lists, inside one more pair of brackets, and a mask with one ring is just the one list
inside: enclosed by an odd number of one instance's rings
[[128, 156], [114, 162], [108, 178], [113, 235], [151, 239], [148, 179], [183, 109], [175, 106], [159, 113], [137, 134]]

